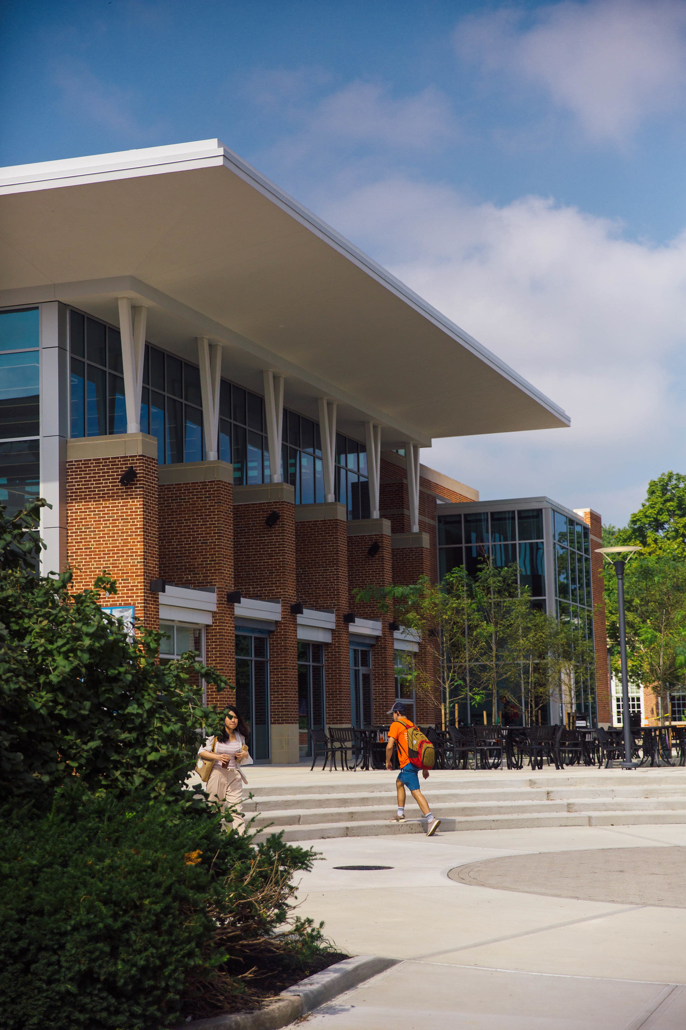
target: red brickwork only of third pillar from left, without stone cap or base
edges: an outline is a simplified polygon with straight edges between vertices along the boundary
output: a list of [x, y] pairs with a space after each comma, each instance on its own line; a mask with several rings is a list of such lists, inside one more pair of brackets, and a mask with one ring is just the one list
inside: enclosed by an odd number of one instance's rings
[[[297, 712], [295, 604], [295, 505], [288, 501], [238, 504], [233, 508], [233, 583], [246, 597], [282, 602], [282, 621], [269, 634], [270, 721], [294, 724]], [[267, 515], [278, 511], [275, 526]]]

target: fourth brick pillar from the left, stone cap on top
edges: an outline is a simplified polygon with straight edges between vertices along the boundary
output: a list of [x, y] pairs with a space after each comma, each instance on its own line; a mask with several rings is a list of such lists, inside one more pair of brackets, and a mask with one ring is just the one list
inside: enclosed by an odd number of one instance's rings
[[[298, 505], [295, 509], [297, 600], [305, 608], [334, 609], [336, 627], [325, 645], [326, 722], [350, 726], [350, 645], [342, 617], [348, 592], [348, 535], [344, 505]], [[302, 742], [304, 743], [304, 741]]]

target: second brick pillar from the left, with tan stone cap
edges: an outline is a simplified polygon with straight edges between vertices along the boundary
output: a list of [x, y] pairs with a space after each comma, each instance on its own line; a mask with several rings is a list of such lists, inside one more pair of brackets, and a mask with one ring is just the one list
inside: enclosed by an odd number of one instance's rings
[[[159, 575], [176, 586], [215, 587], [217, 611], [206, 626], [205, 657], [233, 683], [233, 467], [225, 461], [159, 466]], [[232, 691], [208, 684], [208, 703], [224, 707]]]

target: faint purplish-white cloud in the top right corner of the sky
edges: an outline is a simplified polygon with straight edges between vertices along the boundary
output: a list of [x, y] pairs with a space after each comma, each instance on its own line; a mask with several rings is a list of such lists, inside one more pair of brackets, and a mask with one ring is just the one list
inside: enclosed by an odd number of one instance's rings
[[543, 87], [597, 139], [623, 143], [646, 118], [683, 103], [683, 0], [563, 2], [538, 8], [532, 25], [525, 18], [507, 9], [466, 19], [458, 53]]

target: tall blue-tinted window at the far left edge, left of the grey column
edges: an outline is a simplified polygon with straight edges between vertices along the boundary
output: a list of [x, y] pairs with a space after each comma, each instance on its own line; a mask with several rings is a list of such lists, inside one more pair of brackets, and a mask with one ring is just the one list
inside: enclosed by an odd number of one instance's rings
[[40, 492], [38, 308], [0, 311], [0, 504], [13, 516]]

